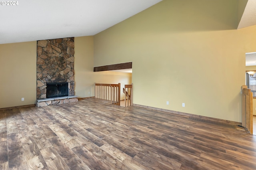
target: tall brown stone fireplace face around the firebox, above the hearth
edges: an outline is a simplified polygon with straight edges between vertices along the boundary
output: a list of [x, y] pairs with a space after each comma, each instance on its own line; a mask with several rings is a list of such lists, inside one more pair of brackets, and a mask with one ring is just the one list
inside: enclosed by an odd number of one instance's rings
[[46, 99], [47, 85], [67, 83], [68, 94], [74, 91], [74, 37], [37, 42], [36, 99]]

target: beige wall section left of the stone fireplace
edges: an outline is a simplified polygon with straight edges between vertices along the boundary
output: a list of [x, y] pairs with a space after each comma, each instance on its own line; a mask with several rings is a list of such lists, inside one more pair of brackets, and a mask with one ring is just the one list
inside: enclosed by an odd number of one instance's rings
[[36, 103], [36, 42], [0, 44], [0, 63], [0, 108]]

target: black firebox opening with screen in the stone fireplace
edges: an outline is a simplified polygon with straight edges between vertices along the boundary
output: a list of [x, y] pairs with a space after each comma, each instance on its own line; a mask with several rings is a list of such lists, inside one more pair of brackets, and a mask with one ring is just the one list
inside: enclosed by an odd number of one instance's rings
[[46, 98], [68, 96], [68, 83], [46, 83]]

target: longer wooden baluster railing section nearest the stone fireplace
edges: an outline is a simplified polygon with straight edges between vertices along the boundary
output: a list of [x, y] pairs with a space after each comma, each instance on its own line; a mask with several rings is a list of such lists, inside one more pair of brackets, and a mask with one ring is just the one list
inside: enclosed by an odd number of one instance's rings
[[120, 83], [95, 83], [95, 97], [99, 99], [109, 100], [111, 104], [120, 106]]

